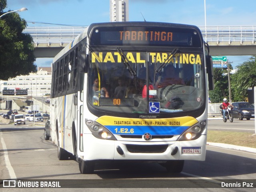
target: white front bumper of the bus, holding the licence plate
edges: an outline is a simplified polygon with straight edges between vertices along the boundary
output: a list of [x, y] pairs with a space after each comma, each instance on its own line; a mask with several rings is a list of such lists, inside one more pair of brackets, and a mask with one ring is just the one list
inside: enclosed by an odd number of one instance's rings
[[[160, 148], [164, 147], [164, 151]], [[153, 151], [151, 148], [154, 148]], [[158, 149], [159, 148], [159, 149]], [[197, 160], [206, 156], [206, 135], [191, 141], [113, 141], [84, 134], [84, 160]]]

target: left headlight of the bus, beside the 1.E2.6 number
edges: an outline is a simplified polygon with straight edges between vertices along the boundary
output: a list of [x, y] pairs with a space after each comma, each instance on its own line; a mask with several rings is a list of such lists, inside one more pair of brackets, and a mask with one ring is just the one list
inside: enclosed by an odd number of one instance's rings
[[94, 137], [99, 139], [109, 139], [109, 140], [116, 140], [116, 137], [103, 125], [100, 125], [96, 121], [92, 120], [85, 120], [85, 124], [92, 132]]

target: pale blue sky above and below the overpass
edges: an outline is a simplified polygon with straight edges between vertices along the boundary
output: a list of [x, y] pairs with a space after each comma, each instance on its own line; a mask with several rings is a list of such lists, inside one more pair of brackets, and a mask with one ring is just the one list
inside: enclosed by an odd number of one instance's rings
[[[4, 11], [22, 7], [28, 10], [18, 13], [28, 27], [88, 26], [110, 21], [110, 0], [7, 0]], [[144, 21], [145, 18], [148, 22], [197, 26], [205, 26], [205, 23], [207, 26], [252, 26], [256, 25], [255, 7], [255, 0], [129, 0], [128, 9], [129, 21]], [[227, 55], [234, 69], [250, 57]], [[38, 58], [35, 63], [38, 67], [50, 67], [52, 58]]]

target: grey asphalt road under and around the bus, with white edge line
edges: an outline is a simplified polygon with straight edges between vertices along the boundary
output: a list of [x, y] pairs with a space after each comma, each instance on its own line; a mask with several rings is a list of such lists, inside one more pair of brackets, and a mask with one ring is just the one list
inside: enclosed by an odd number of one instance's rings
[[[1, 125], [0, 139], [2, 179], [65, 179], [66, 182], [63, 183], [62, 180], [61, 184], [66, 187], [73, 188], [77, 182], [82, 188], [88, 186], [112, 188], [112, 190], [114, 188], [113, 191], [118, 191], [115, 189], [117, 187], [141, 189], [164, 187], [170, 190], [173, 186], [196, 187], [199, 191], [205, 191], [204, 187], [219, 186], [222, 179], [240, 182], [240, 179], [256, 178], [256, 153], [220, 147], [207, 146], [206, 161], [185, 161], [184, 169], [180, 174], [168, 173], [158, 163], [138, 161], [99, 163], [96, 165], [94, 174], [80, 174], [76, 161], [58, 160], [57, 147], [51, 140], [44, 140], [43, 126], [31, 126], [29, 123], [8, 127]], [[75, 179], [76, 182], [70, 182], [70, 179]], [[256, 186], [255, 180], [248, 181], [254, 182], [254, 187]], [[68, 191], [68, 188], [63, 190]]]

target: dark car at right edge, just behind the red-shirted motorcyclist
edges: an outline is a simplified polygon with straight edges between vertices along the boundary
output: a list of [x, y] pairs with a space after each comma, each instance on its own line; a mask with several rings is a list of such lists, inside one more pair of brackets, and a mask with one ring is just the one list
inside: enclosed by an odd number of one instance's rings
[[238, 118], [239, 120], [250, 120], [250, 118], [255, 118], [254, 104], [248, 102], [234, 102], [232, 103], [233, 108], [233, 118]]

